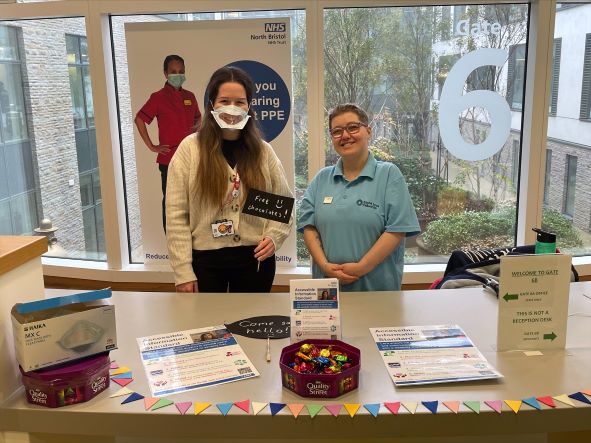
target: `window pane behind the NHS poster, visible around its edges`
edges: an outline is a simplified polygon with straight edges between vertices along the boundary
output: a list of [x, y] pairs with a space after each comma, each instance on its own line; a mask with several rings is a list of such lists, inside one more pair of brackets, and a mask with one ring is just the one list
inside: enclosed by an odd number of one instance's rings
[[[278, 3], [279, 4], [279, 3]], [[295, 196], [296, 211], [307, 187], [308, 181], [308, 130], [307, 130], [307, 78], [306, 78], [306, 17], [304, 10], [208, 12], [165, 15], [112, 16], [111, 32], [114, 57], [116, 60], [117, 89], [119, 93], [120, 134], [122, 158], [125, 173], [125, 197], [130, 243], [130, 260], [143, 262], [143, 240], [139, 216], [139, 196], [133, 140], [133, 119], [137, 110], [131, 109], [129, 98], [129, 75], [125, 44], [125, 23], [154, 21], [230, 20], [243, 18], [291, 17], [292, 36], [292, 94], [294, 121]], [[195, 69], [195, 68], [192, 68]], [[196, 92], [196, 91], [194, 91]], [[199, 97], [199, 94], [197, 94]], [[201, 107], [201, 105], [200, 105]], [[297, 242], [298, 265], [309, 262], [308, 251], [303, 240]]]

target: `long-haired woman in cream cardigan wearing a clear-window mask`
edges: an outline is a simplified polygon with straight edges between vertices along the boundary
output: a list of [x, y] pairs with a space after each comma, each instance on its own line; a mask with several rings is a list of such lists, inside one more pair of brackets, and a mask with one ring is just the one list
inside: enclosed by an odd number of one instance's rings
[[207, 85], [201, 128], [179, 145], [168, 173], [167, 242], [178, 292], [269, 292], [289, 225], [241, 212], [249, 189], [292, 196], [285, 171], [250, 108], [243, 70]]

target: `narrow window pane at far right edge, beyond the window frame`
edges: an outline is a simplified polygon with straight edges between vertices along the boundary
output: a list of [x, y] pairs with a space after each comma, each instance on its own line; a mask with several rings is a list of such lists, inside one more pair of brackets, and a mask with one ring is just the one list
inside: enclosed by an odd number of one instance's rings
[[591, 167], [591, 122], [579, 120], [589, 33], [591, 4], [556, 5], [554, 41], [561, 39], [560, 81], [555, 91], [556, 114], [548, 116], [542, 228], [555, 232], [560, 250], [573, 255], [591, 254], [591, 200], [586, 197], [589, 174], [585, 174]]

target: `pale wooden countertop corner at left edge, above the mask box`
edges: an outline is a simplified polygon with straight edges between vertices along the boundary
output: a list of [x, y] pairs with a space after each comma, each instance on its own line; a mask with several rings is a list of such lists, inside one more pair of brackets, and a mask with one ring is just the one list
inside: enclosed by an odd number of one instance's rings
[[47, 239], [41, 236], [0, 236], [0, 275], [47, 252]]

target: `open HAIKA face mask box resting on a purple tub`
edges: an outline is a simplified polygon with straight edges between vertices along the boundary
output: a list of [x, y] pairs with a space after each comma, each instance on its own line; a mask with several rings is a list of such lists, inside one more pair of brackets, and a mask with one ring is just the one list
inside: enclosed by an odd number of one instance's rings
[[18, 303], [11, 310], [16, 359], [33, 371], [117, 348], [111, 290]]

